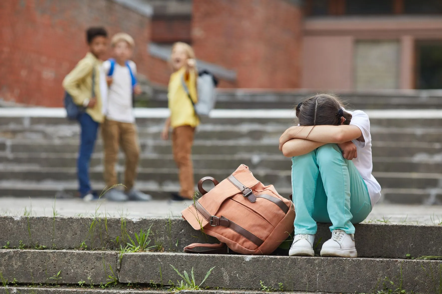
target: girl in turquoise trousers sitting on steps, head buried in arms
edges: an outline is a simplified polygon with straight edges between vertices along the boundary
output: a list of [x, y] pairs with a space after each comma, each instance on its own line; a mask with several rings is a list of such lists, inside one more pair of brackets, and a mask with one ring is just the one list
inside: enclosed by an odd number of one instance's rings
[[293, 163], [296, 217], [289, 255], [314, 256], [316, 222], [331, 222], [321, 256], [357, 257], [353, 224], [366, 219], [381, 197], [371, 174], [370, 120], [328, 94], [299, 103], [296, 116], [299, 125], [279, 139], [279, 150]]

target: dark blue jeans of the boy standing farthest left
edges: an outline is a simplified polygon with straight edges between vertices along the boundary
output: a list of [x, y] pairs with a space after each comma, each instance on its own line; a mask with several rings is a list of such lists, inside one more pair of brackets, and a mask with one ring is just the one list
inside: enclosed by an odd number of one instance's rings
[[89, 163], [91, 161], [91, 155], [94, 151], [95, 141], [97, 139], [97, 132], [99, 123], [92, 120], [88, 113], [82, 113], [78, 117], [80, 123], [80, 148], [78, 151], [77, 159], [77, 177], [80, 188], [80, 196], [92, 192], [91, 181], [89, 180]]

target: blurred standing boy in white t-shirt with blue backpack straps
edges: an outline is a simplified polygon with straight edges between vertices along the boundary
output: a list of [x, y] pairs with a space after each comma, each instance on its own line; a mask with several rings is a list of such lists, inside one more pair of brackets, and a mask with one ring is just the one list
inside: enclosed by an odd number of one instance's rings
[[114, 59], [103, 62], [109, 85], [106, 105], [103, 106], [106, 118], [102, 124], [104, 180], [107, 187], [118, 185], [115, 163], [120, 147], [126, 155], [126, 170], [124, 192], [117, 186], [110, 189], [105, 196], [113, 201], [151, 200], [150, 195], [133, 188], [140, 155], [133, 116], [133, 97], [141, 94], [141, 87], [136, 79], [137, 67], [130, 60], [135, 42], [129, 34], [118, 33], [112, 37], [110, 44]]

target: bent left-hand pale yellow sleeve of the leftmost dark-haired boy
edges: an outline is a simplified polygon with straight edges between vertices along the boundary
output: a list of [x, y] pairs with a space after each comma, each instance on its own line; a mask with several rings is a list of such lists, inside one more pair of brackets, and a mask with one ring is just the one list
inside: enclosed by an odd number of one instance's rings
[[90, 60], [80, 60], [63, 80], [63, 87], [68, 92], [76, 105], [83, 105], [86, 99], [90, 99], [90, 94], [85, 95], [78, 84], [81, 83], [88, 75], [91, 74], [94, 64]]

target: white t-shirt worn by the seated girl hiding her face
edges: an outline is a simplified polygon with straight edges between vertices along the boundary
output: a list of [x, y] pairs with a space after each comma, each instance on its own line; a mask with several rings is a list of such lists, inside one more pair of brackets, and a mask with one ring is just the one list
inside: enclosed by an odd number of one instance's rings
[[352, 141], [356, 145], [358, 151], [358, 157], [353, 158], [352, 162], [367, 185], [371, 206], [373, 207], [379, 198], [381, 198], [381, 185], [379, 185], [371, 174], [373, 170], [373, 161], [371, 156], [370, 119], [362, 110], [355, 110], [354, 112], [348, 111], [348, 113], [353, 115], [350, 124], [357, 126], [361, 130], [362, 136], [365, 140], [365, 142], [358, 140]]

